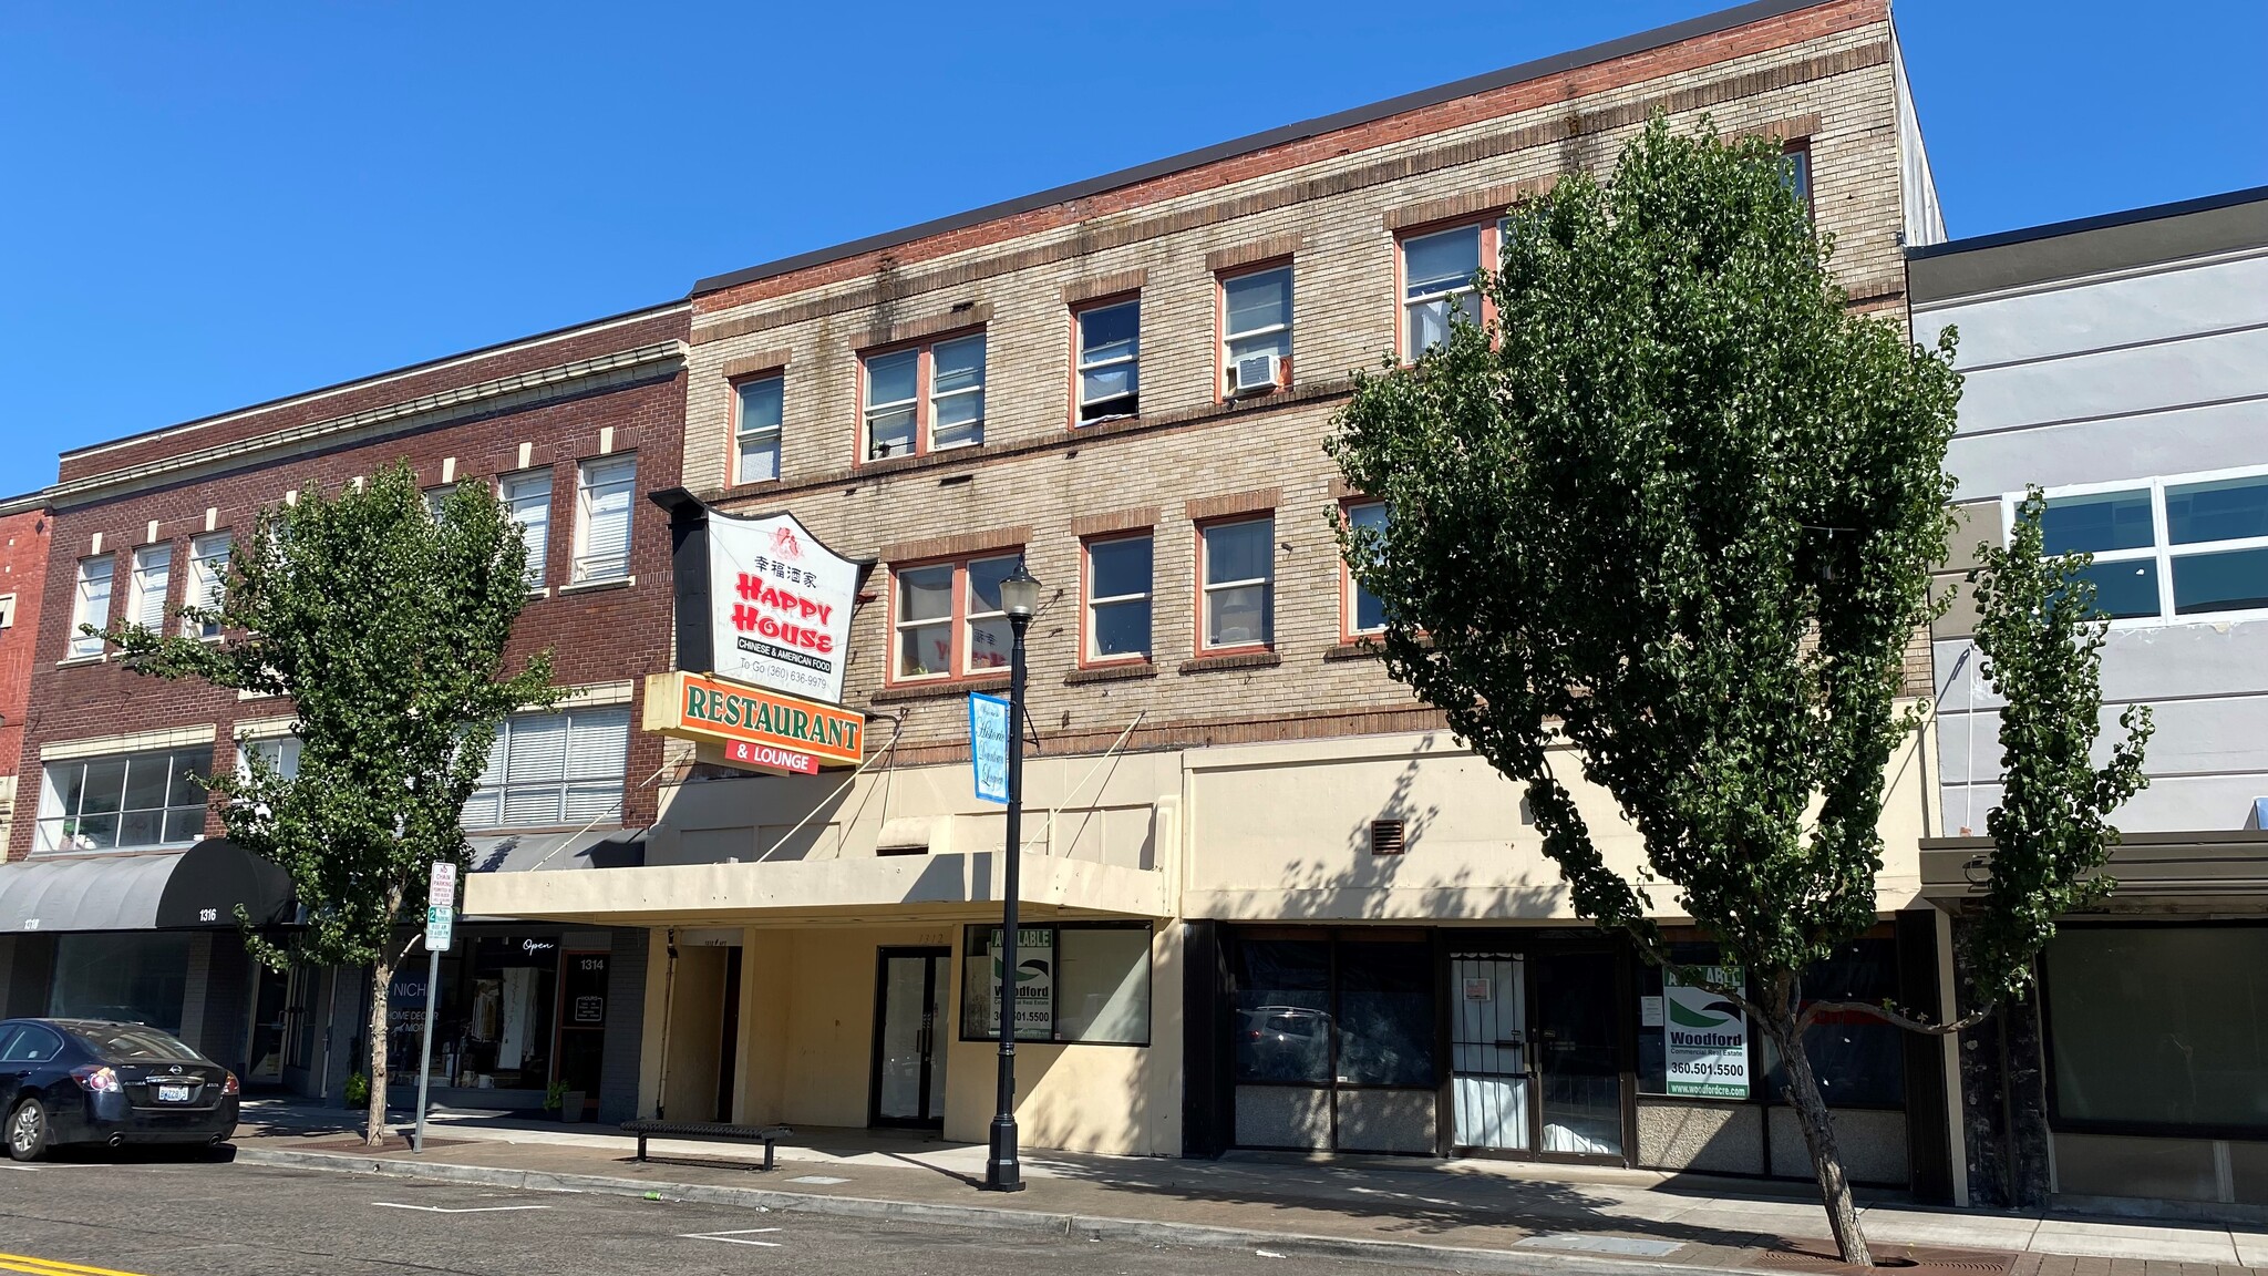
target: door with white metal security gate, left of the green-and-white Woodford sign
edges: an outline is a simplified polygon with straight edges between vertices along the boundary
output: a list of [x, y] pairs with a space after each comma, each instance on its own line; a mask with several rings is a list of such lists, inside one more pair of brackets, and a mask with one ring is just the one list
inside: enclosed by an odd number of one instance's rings
[[1529, 992], [1515, 954], [1454, 954], [1449, 1083], [1461, 1149], [1529, 1151]]

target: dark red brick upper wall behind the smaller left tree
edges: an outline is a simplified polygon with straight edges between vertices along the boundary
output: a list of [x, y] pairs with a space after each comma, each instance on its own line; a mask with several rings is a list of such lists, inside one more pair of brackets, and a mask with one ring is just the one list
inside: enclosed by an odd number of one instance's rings
[[[669, 663], [669, 524], [642, 493], [678, 484], [685, 325], [685, 307], [665, 307], [66, 454], [50, 488], [43, 588], [23, 590], [45, 604], [23, 622], [29, 715], [20, 745], [7, 742], [25, 788], [7, 856], [34, 847], [43, 747], [211, 727], [215, 765], [229, 765], [236, 724], [290, 715], [288, 702], [166, 683], [111, 658], [66, 658], [79, 561], [111, 556], [118, 620], [134, 549], [170, 545], [168, 608], [177, 608], [195, 536], [247, 529], [256, 509], [288, 493], [336, 488], [397, 461], [429, 488], [551, 470], [547, 590], [528, 602], [510, 656], [551, 647], [562, 686], [631, 681], [635, 720], [637, 679]], [[601, 454], [637, 456], [631, 581], [574, 588], [576, 463]], [[660, 765], [660, 740], [633, 731], [621, 824], [653, 820], [655, 792], [644, 781]], [[220, 833], [218, 817], [206, 833]]]

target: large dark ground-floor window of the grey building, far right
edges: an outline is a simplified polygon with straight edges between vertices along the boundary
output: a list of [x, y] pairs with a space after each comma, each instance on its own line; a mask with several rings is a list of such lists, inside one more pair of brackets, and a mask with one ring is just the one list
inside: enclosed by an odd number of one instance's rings
[[2082, 926], [2046, 954], [2057, 1122], [2268, 1128], [2268, 926]]

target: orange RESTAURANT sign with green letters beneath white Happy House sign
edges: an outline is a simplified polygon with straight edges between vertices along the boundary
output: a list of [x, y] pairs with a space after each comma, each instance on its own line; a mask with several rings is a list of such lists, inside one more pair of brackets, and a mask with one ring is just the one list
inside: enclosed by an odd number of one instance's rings
[[866, 747], [857, 713], [685, 670], [646, 679], [646, 731], [717, 745], [735, 765], [794, 774], [857, 765]]

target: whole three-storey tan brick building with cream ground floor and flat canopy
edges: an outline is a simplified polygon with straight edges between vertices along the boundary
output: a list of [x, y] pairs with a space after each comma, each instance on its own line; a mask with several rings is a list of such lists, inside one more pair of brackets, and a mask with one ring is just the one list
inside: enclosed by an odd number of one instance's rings
[[[1658, 976], [1363, 656], [1331, 540], [1352, 372], [1656, 111], [1785, 138], [1853, 304], [1903, 307], [1901, 247], [1941, 229], [1880, 0], [1749, 5], [696, 284], [683, 484], [875, 563], [844, 697], [871, 738], [850, 779], [694, 770], [646, 867], [481, 883], [483, 910], [655, 929], [642, 1110], [982, 1138], [1005, 826], [966, 697], [1005, 683], [1021, 559], [1030, 1142], [1803, 1174], [1758, 1047], [1746, 1097], [1665, 1092]], [[1892, 783], [1885, 926], [1844, 976], [1912, 1001], [1930, 792]], [[1862, 1181], [1939, 1190], [1935, 1051], [1826, 1065]]]

